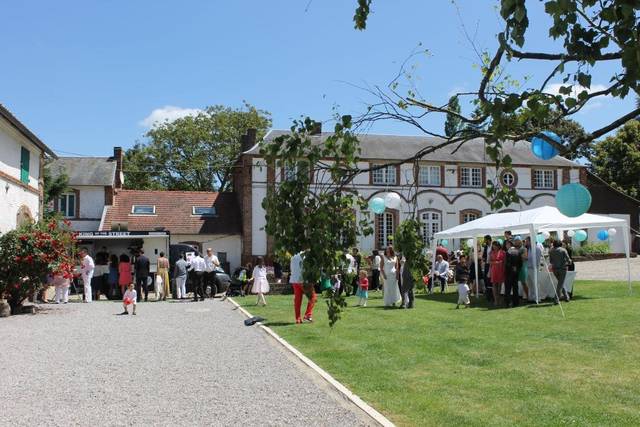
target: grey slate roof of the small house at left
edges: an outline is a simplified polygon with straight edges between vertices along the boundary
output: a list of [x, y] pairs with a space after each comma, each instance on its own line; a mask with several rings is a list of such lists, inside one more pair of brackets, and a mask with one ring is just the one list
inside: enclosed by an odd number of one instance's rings
[[59, 157], [49, 165], [51, 175], [61, 171], [69, 177], [69, 185], [113, 186], [116, 161], [113, 157]]

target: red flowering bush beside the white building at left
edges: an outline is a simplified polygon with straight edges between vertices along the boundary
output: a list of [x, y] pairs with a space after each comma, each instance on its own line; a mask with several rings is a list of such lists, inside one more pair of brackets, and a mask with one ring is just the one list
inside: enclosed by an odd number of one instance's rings
[[0, 296], [11, 311], [42, 289], [49, 274], [71, 278], [75, 249], [76, 233], [55, 218], [0, 236]]

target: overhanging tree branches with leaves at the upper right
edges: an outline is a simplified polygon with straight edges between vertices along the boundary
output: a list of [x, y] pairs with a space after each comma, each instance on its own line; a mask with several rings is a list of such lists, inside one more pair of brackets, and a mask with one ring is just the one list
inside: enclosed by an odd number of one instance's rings
[[[366, 28], [371, 5], [371, 0], [358, 0], [354, 14], [357, 29]], [[539, 132], [523, 124], [547, 124], [552, 121], [554, 114], [559, 114], [559, 119], [569, 119], [604, 96], [622, 99], [630, 92], [640, 94], [639, 1], [546, 0], [544, 6], [551, 22], [549, 36], [563, 45], [556, 52], [528, 50], [525, 46], [527, 30], [530, 24], [535, 23], [529, 20], [526, 1], [500, 0], [504, 29], [497, 36], [495, 51], [492, 54], [479, 54], [481, 76], [478, 88], [456, 94], [459, 98], [469, 100], [473, 106], [471, 114], [459, 114], [448, 105], [440, 106], [412, 90], [406, 94], [399, 93], [398, 87], [401, 86], [398, 79], [409, 74], [401, 70], [387, 88], [371, 90], [379, 101], [370, 105], [368, 113], [360, 121], [400, 120], [416, 126], [429, 136], [444, 139], [442, 144], [425, 147], [404, 161], [420, 159], [447, 146], [454, 147], [455, 152], [471, 139], [484, 138], [487, 153], [499, 170], [511, 164], [511, 159], [503, 154], [504, 141], [527, 140]], [[526, 76], [517, 79], [505, 73], [505, 67], [511, 61], [549, 64], [549, 71], [539, 76], [534, 85], [535, 81], [526, 80]], [[608, 86], [602, 90], [592, 89], [592, 74], [596, 68], [609, 73]], [[549, 85], [556, 81], [562, 82], [559, 93], [550, 93]], [[424, 120], [431, 114], [459, 118], [465, 132], [448, 137], [430, 130]], [[572, 135], [573, 139], [566, 146], [544, 138], [556, 145], [561, 154], [579, 156], [576, 153], [580, 147], [592, 146], [597, 138], [638, 115], [640, 106], [592, 132]], [[589, 149], [583, 152], [588, 153]], [[500, 183], [488, 186], [486, 195], [493, 208], [518, 200], [515, 191], [501, 187]]]

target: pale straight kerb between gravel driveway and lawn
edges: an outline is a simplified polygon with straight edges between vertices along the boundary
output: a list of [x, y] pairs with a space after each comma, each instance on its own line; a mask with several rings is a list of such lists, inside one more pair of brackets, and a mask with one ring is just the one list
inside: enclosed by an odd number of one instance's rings
[[[242, 308], [237, 302], [235, 302], [232, 298], [227, 298], [227, 300], [236, 307], [242, 314], [244, 314], [247, 318], [253, 317], [251, 313]], [[328, 382], [338, 393], [340, 393], [344, 398], [349, 400], [351, 403], [356, 405], [362, 411], [364, 411], [367, 415], [369, 415], [374, 421], [376, 421], [381, 426], [385, 427], [393, 427], [393, 424], [387, 417], [382, 415], [380, 412], [376, 411], [370, 405], [368, 405], [364, 400], [354, 394], [351, 390], [345, 387], [338, 380], [333, 378], [327, 371], [322, 369], [320, 366], [316, 365], [311, 359], [302, 354], [297, 348], [289, 344], [284, 338], [280, 335], [276, 334], [271, 328], [263, 325], [262, 323], [256, 323], [258, 327], [260, 327], [263, 331], [265, 331], [268, 335], [270, 335], [273, 339], [275, 339], [280, 345], [282, 345], [285, 349], [287, 349], [290, 353], [292, 353], [295, 357], [297, 357], [302, 363], [311, 368], [315, 373], [320, 375], [326, 382]]]

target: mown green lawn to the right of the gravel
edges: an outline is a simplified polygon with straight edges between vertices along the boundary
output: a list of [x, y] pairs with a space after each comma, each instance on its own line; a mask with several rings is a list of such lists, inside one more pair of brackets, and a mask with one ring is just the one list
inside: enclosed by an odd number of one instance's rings
[[333, 330], [322, 298], [303, 325], [292, 296], [235, 300], [399, 425], [640, 425], [640, 297], [575, 289], [566, 319], [549, 304], [455, 310], [453, 289], [385, 310], [371, 293]]

